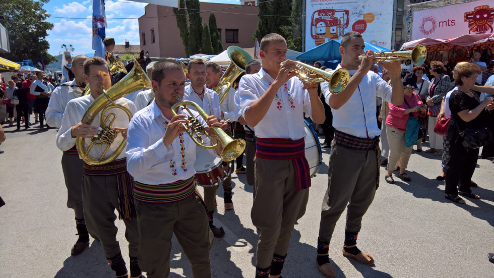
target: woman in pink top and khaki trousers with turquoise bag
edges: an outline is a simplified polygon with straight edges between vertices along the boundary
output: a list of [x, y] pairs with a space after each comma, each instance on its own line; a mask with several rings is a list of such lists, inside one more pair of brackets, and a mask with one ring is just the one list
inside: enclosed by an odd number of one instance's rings
[[[414, 144], [417, 143], [418, 136], [418, 123], [416, 121], [417, 117], [425, 117], [426, 106], [422, 105], [422, 100], [420, 96], [413, 92], [417, 88], [417, 76], [413, 73], [407, 74], [402, 79], [404, 87], [404, 98], [403, 104], [396, 106], [389, 103], [389, 116], [386, 119], [386, 135], [388, 137], [389, 143], [389, 156], [388, 156], [388, 172], [385, 177], [386, 182], [394, 184], [393, 180], [393, 170], [396, 166], [400, 166], [400, 174], [398, 177], [406, 182], [411, 181], [411, 179], [406, 174], [405, 170], [408, 165], [408, 160], [410, 159], [410, 154], [412, 153], [413, 145], [405, 145], [405, 134], [407, 134], [407, 124], [408, 124], [408, 136], [414, 136]], [[415, 119], [410, 119], [412, 116]]]

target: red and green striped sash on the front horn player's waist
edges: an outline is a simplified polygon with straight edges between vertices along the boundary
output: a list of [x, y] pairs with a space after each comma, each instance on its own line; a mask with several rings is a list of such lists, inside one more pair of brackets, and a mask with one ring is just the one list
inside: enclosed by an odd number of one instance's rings
[[171, 203], [183, 200], [196, 191], [194, 176], [187, 180], [158, 185], [143, 184], [136, 181], [134, 198], [147, 203]]

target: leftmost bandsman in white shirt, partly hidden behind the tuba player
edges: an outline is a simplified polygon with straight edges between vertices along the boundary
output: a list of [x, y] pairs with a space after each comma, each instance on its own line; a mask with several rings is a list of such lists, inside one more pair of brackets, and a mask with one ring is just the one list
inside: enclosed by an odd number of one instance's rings
[[[74, 80], [59, 84], [51, 92], [48, 108], [46, 109], [46, 124], [50, 127], [60, 128], [64, 117], [65, 107], [70, 100], [80, 97], [86, 86], [84, 82], [84, 62], [88, 60], [86, 55], [77, 55], [72, 61], [71, 70], [75, 75]], [[67, 207], [74, 209], [76, 217], [77, 239], [72, 247], [71, 254], [78, 255], [89, 246], [89, 234], [84, 221], [84, 208], [82, 202], [81, 180], [83, 161], [75, 145], [64, 151], [61, 159], [62, 172], [67, 187]]]

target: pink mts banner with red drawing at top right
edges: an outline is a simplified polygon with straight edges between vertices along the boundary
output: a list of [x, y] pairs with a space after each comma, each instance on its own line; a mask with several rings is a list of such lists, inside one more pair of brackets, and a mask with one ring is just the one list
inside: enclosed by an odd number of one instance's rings
[[480, 0], [413, 12], [412, 40], [492, 33], [494, 2]]

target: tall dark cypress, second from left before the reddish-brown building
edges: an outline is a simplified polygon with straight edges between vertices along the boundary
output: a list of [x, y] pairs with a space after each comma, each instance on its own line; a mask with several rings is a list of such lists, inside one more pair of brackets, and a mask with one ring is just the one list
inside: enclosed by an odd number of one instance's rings
[[201, 4], [199, 0], [187, 0], [187, 13], [189, 15], [189, 43], [191, 54], [197, 54], [201, 51], [201, 37], [203, 32], [203, 24], [201, 17]]

